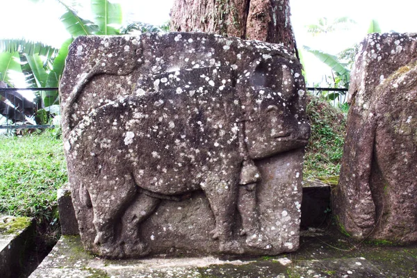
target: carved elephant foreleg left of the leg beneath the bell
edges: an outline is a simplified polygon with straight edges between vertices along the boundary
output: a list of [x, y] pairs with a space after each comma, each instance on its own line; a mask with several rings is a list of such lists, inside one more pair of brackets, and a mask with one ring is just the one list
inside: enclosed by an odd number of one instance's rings
[[224, 253], [243, 254], [244, 250], [233, 238], [234, 213], [236, 211], [236, 181], [208, 181], [202, 186], [215, 217], [213, 238], [218, 239], [219, 250]]

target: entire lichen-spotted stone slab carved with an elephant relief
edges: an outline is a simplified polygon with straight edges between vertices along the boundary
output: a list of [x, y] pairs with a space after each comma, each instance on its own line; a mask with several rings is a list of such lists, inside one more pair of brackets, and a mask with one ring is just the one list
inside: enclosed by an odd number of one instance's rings
[[77, 39], [60, 92], [85, 248], [296, 250], [310, 131], [288, 53], [204, 33]]

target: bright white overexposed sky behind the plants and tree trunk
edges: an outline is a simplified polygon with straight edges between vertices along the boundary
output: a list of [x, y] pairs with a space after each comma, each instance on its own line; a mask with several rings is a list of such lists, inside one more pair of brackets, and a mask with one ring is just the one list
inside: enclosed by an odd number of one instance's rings
[[[122, 3], [124, 17], [140, 22], [158, 25], [170, 19], [169, 13], [173, 0], [117, 0]], [[70, 2], [67, 0], [65, 2]], [[89, 0], [79, 1], [87, 7], [80, 12], [81, 17], [88, 17]], [[59, 16], [65, 10], [55, 0], [32, 3], [29, 0], [0, 0], [2, 15], [0, 17], [1, 38], [26, 38], [42, 41], [54, 47], [69, 38]], [[350, 0], [290, 0], [291, 22], [295, 31], [298, 48], [308, 45], [336, 54], [352, 44], [360, 42], [366, 35], [371, 19], [377, 19], [383, 32], [416, 32], [417, 2], [409, 0], [377, 1]], [[333, 35], [312, 37], [305, 32], [304, 26], [313, 24], [320, 17], [332, 20], [335, 17], [350, 17], [357, 22], [351, 31]], [[304, 54], [306, 72], [309, 81], [320, 81], [329, 70], [316, 63], [315, 58]]]

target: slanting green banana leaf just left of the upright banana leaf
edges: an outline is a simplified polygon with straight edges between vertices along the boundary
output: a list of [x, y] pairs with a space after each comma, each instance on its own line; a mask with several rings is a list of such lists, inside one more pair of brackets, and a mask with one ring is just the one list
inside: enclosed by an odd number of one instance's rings
[[79, 35], [93, 35], [98, 31], [99, 27], [93, 22], [82, 19], [74, 10], [65, 5], [65, 3], [59, 0], [58, 2], [63, 4], [63, 6], [67, 9], [67, 13], [61, 15], [60, 21], [63, 22], [68, 33], [70, 33], [74, 38]]

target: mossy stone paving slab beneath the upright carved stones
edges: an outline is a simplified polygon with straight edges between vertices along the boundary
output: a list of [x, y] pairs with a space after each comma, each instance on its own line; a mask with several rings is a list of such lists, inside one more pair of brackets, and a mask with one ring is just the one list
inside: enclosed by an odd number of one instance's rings
[[84, 252], [79, 236], [63, 236], [30, 278], [417, 277], [417, 246], [354, 244], [313, 230], [304, 233], [299, 251], [280, 256], [108, 260]]

